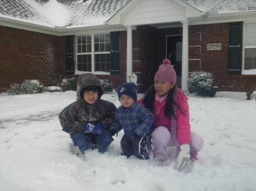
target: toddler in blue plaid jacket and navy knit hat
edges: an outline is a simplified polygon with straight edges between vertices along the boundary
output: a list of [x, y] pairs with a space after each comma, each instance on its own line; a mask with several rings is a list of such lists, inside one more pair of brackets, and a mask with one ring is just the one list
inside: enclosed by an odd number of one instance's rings
[[131, 155], [139, 159], [149, 159], [147, 141], [154, 121], [153, 114], [137, 103], [137, 86], [134, 83], [123, 83], [117, 88], [118, 99], [122, 104], [115, 112], [115, 121], [110, 126], [110, 134], [114, 135], [121, 129], [121, 155]]

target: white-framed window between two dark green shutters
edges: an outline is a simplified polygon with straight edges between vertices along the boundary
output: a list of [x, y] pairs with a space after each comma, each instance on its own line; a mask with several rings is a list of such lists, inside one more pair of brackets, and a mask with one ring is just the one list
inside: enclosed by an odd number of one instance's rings
[[110, 73], [110, 33], [77, 36], [77, 70]]

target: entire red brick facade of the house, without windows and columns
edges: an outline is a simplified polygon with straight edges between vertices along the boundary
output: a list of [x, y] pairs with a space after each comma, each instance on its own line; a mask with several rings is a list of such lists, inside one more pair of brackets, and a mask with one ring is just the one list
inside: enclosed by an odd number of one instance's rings
[[[45, 86], [65, 75], [65, 36], [0, 26], [0, 91], [11, 83], [38, 79]], [[139, 92], [154, 83], [154, 75], [166, 58], [166, 36], [181, 35], [181, 28], [156, 29], [137, 26], [133, 30], [133, 73]], [[114, 88], [126, 81], [126, 31], [120, 33], [120, 74], [98, 75]], [[221, 43], [221, 50], [207, 44]], [[213, 72], [218, 91], [246, 91], [256, 86], [256, 75], [228, 74], [228, 23], [189, 26], [189, 71]], [[73, 77], [73, 75], [68, 75]]]

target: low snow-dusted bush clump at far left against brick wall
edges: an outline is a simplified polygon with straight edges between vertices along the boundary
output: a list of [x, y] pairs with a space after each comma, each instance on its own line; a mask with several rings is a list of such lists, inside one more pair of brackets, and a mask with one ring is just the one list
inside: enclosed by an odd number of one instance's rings
[[9, 95], [39, 94], [43, 92], [44, 85], [37, 79], [25, 79], [21, 84], [13, 83], [7, 90]]

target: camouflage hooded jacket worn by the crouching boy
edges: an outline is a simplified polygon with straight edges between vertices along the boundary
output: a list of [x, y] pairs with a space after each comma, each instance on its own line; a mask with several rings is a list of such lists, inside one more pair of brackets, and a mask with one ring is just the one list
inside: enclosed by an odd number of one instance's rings
[[[88, 86], [97, 86], [99, 88], [98, 100], [94, 104], [88, 104], [81, 97], [80, 92]], [[62, 130], [67, 133], [76, 133], [77, 127], [84, 127], [88, 122], [97, 124], [100, 122], [104, 129], [109, 129], [114, 122], [116, 107], [109, 101], [102, 100], [104, 88], [100, 80], [94, 74], [82, 74], [77, 81], [77, 101], [69, 104], [59, 114]]]

